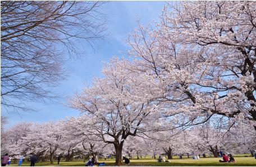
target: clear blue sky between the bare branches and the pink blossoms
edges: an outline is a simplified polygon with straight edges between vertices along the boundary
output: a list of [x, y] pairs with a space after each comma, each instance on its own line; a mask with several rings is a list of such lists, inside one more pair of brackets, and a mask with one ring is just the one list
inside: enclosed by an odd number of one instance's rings
[[102, 62], [106, 62], [112, 56], [123, 56], [120, 51], [126, 51], [125, 39], [127, 34], [138, 26], [138, 19], [143, 25], [153, 21], [159, 21], [163, 1], [112, 1], [105, 4], [108, 13], [108, 32], [111, 33], [106, 40], [100, 42], [94, 53], [90, 53], [89, 48], [81, 46], [81, 51], [87, 53], [81, 59], [71, 60], [66, 64], [69, 77], [63, 80], [58, 87], [54, 88], [62, 98], [52, 103], [29, 103], [36, 112], [6, 113], [2, 111], [2, 116], [8, 117], [6, 127], [15, 125], [17, 122], [46, 122], [54, 121], [66, 116], [79, 116], [80, 112], [63, 106], [66, 98], [72, 96], [74, 92], [80, 92], [85, 83], [92, 82], [93, 77], [102, 76]]

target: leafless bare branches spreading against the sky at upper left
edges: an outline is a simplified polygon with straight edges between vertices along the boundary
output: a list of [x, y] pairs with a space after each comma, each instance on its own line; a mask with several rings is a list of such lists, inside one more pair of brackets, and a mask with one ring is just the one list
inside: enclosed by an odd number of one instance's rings
[[95, 46], [106, 19], [98, 1], [1, 2], [1, 105], [16, 111], [27, 101], [54, 97], [63, 63], [77, 42]]

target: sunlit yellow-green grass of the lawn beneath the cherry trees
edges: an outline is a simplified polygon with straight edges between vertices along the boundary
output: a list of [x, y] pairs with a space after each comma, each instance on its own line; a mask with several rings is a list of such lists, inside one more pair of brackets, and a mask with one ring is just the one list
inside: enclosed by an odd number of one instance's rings
[[[136, 160], [132, 159], [129, 166], [256, 166], [256, 159], [252, 157], [235, 157], [236, 163], [219, 163], [221, 158], [201, 158], [193, 159], [171, 159], [171, 163], [158, 163], [156, 159]], [[103, 161], [101, 161], [103, 162]], [[115, 160], [104, 160], [107, 166], [115, 166]], [[21, 166], [29, 166], [30, 163], [22, 163]], [[17, 166], [11, 164], [11, 166]], [[49, 162], [36, 163], [35, 166], [85, 166], [83, 161], [61, 162], [60, 165]], [[125, 166], [125, 165], [124, 165]], [[127, 165], [126, 165], [127, 166]]]

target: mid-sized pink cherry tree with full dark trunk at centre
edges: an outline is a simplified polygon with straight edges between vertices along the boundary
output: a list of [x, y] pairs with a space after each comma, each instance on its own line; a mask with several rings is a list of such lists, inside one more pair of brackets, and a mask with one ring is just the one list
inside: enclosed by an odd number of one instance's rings
[[[154, 93], [145, 90], [144, 74], [129, 69], [129, 61], [112, 59], [103, 68], [104, 78], [95, 78], [92, 87], [84, 88], [69, 101], [70, 107], [84, 113], [76, 120], [83, 123], [81, 126], [89, 127], [88, 132], [115, 146], [116, 165], [121, 164], [127, 137], [135, 136], [154, 113], [149, 103]], [[143, 91], [147, 98], [141, 98]]]

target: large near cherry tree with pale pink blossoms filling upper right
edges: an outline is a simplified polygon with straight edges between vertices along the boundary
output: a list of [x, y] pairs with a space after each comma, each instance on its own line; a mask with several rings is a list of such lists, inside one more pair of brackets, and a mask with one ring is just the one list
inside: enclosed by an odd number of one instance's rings
[[185, 113], [184, 125], [194, 125], [217, 114], [255, 127], [255, 17], [255, 2], [179, 2], [156, 27], [130, 35], [134, 66], [170, 103], [167, 115]]

